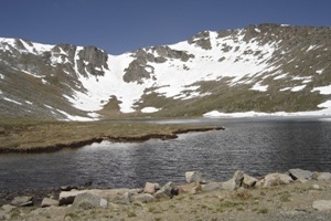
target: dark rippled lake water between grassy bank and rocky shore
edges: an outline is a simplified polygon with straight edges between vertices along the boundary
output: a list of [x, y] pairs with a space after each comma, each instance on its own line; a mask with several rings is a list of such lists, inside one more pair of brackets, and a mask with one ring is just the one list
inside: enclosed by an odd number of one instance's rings
[[[159, 122], [175, 123], [172, 120]], [[172, 140], [102, 143], [53, 154], [0, 155], [0, 190], [84, 185], [137, 188], [146, 181], [184, 182], [199, 170], [224, 181], [237, 169], [252, 176], [291, 168], [331, 171], [331, 120], [328, 118], [192, 119], [225, 130], [190, 133]]]

